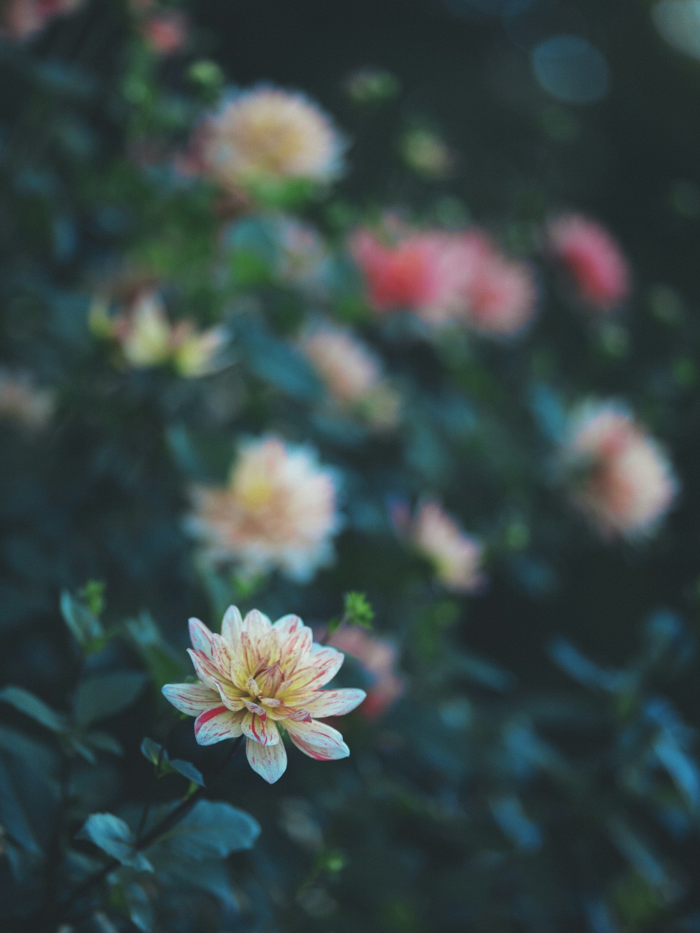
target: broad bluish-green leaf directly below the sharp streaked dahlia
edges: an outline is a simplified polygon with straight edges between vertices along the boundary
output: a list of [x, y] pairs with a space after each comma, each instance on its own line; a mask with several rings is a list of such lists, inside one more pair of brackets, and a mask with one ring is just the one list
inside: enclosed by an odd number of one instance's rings
[[250, 849], [260, 835], [254, 818], [220, 801], [199, 801], [158, 846], [181, 858], [221, 858]]

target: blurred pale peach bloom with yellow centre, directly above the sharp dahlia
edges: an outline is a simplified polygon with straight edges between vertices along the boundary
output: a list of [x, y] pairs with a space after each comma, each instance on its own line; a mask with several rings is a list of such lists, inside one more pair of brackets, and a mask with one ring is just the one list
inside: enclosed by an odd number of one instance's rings
[[193, 499], [190, 526], [214, 559], [238, 561], [251, 574], [277, 568], [308, 580], [333, 558], [336, 482], [309, 450], [273, 437], [251, 441], [226, 486], [198, 487]]

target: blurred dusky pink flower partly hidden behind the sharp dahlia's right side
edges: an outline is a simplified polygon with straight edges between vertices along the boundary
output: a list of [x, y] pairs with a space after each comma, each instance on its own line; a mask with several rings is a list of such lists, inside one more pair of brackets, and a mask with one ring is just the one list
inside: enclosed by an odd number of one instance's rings
[[361, 713], [376, 719], [404, 692], [404, 679], [396, 673], [396, 646], [385, 638], [353, 626], [341, 628], [331, 635], [328, 644], [351, 654], [371, 677]]

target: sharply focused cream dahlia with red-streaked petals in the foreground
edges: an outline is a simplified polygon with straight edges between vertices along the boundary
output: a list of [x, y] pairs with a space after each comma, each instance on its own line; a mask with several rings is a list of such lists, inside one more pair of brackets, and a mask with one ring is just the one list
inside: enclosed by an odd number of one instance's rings
[[253, 609], [245, 619], [226, 610], [221, 634], [199, 619], [189, 620], [188, 653], [198, 684], [167, 684], [163, 694], [182, 713], [195, 716], [199, 745], [246, 737], [254, 772], [269, 784], [287, 767], [282, 737], [317, 761], [350, 755], [332, 726], [316, 717], [343, 716], [363, 702], [360, 689], [322, 689], [340, 669], [343, 654], [313, 641], [298, 616], [272, 623]]

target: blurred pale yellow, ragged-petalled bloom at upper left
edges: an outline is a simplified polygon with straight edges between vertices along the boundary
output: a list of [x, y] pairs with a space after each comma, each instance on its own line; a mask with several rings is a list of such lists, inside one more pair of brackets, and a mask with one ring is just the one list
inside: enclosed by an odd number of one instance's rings
[[116, 341], [134, 369], [172, 363], [182, 376], [212, 372], [214, 358], [226, 341], [221, 327], [198, 331], [192, 321], [171, 324], [156, 292], [142, 292], [129, 309], [110, 317], [101, 301], [90, 309], [89, 326], [98, 336]]

